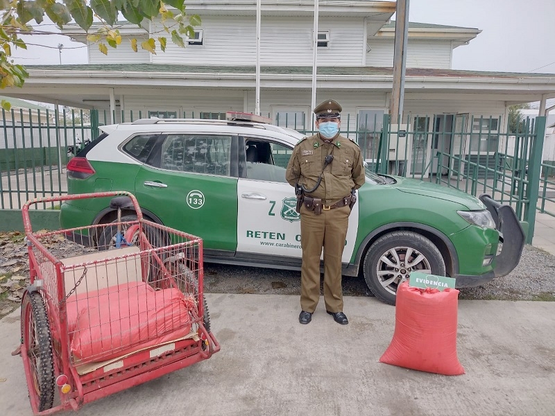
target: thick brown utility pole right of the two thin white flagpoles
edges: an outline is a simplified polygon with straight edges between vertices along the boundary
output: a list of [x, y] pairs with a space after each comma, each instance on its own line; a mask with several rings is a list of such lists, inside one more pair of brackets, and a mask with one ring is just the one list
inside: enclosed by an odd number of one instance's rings
[[407, 64], [407, 38], [409, 37], [409, 0], [397, 0], [395, 10], [395, 54], [393, 55], [393, 89], [389, 103], [391, 124], [399, 123], [403, 112], [404, 72]]

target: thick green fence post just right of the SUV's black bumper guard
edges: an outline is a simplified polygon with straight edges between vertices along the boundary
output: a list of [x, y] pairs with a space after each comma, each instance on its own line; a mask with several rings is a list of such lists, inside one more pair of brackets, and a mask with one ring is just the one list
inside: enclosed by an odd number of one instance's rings
[[[524, 220], [528, 222], [527, 244], [532, 243], [534, 225], [536, 223], [536, 207], [538, 205], [538, 194], [540, 192], [540, 171], [542, 166], [543, 139], [545, 137], [545, 124], [547, 117], [536, 117], [533, 132], [533, 143], [528, 160], [528, 186], [526, 188], [526, 200], [524, 205]], [[526, 169], [526, 166], [522, 166]]]

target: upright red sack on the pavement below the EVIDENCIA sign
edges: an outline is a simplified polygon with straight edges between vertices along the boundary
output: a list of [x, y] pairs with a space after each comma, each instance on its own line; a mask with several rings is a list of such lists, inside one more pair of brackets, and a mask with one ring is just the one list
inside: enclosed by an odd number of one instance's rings
[[464, 374], [456, 356], [459, 291], [425, 290], [404, 281], [397, 291], [395, 332], [380, 363], [446, 376]]

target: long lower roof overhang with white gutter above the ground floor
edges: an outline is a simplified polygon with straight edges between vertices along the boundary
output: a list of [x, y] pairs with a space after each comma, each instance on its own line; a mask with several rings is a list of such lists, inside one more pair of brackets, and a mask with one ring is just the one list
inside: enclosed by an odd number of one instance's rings
[[[254, 90], [254, 67], [179, 67], [177, 65], [28, 66], [30, 78], [22, 88], [5, 89], [3, 94], [26, 100], [60, 103], [74, 107], [93, 107], [105, 101], [110, 90], [123, 96], [164, 94], [187, 96], [191, 89]], [[87, 69], [89, 68], [89, 69]], [[182, 69], [180, 69], [182, 68]], [[131, 70], [133, 69], [133, 70]], [[311, 67], [262, 67], [260, 87], [264, 90], [310, 91]], [[318, 90], [352, 89], [391, 92], [393, 70], [369, 67], [320, 67]], [[538, 101], [542, 96], [555, 98], [555, 74], [487, 73], [439, 69], [407, 69], [405, 98], [410, 94], [453, 94], [472, 99], [495, 99], [511, 103]], [[430, 98], [432, 99], [432, 98]]]

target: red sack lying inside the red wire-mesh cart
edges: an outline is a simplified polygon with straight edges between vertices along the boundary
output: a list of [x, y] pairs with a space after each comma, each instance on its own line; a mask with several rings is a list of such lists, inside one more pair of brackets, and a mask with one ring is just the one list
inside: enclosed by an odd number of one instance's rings
[[177, 288], [155, 291], [142, 281], [71, 296], [71, 354], [104, 361], [187, 336], [195, 307]]

